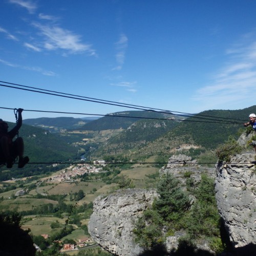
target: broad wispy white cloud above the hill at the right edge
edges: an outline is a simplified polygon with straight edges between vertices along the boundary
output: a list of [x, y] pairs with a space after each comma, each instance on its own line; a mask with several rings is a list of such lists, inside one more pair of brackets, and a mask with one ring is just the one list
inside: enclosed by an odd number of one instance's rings
[[205, 109], [233, 108], [238, 101], [253, 99], [256, 89], [256, 41], [237, 45], [226, 53], [226, 65], [214, 75], [210, 84], [197, 90], [193, 96]]

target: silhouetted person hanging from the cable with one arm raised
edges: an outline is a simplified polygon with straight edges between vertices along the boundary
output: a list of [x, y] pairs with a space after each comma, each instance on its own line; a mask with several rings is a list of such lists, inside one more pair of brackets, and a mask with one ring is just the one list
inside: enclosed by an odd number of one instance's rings
[[[15, 112], [16, 111], [16, 112]], [[0, 164], [6, 164], [11, 168], [15, 159], [18, 157], [18, 168], [23, 168], [29, 162], [28, 157], [23, 157], [24, 142], [23, 138], [14, 137], [18, 135], [18, 130], [22, 126], [23, 109], [15, 109], [16, 126], [8, 132], [8, 123], [0, 119]]]

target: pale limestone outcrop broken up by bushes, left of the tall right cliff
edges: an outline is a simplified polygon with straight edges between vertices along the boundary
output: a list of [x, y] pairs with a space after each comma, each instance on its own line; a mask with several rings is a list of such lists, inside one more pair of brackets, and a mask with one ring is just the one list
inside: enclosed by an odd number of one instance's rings
[[[184, 185], [185, 173], [189, 172], [194, 182], [200, 181], [202, 173], [215, 175], [214, 168], [198, 165], [197, 161], [191, 160], [185, 155], [169, 158], [166, 168], [159, 170], [160, 175], [167, 172], [175, 175]], [[123, 189], [115, 193], [98, 197], [94, 200], [93, 214], [89, 222], [89, 233], [93, 240], [109, 252], [117, 255], [139, 255], [143, 252], [133, 238], [134, 223], [143, 210], [151, 207], [157, 197], [154, 190], [146, 189]], [[194, 198], [191, 198], [193, 203]], [[177, 231], [175, 236], [167, 237], [165, 249], [167, 252], [178, 248], [178, 239], [184, 236], [184, 231]], [[199, 245], [198, 248], [201, 248]], [[202, 247], [209, 251], [207, 245]]]

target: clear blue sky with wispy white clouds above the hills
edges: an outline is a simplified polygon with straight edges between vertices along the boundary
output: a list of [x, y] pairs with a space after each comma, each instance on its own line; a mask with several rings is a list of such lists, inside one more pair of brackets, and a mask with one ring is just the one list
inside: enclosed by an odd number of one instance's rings
[[[0, 80], [185, 113], [244, 109], [255, 104], [255, 13], [252, 0], [2, 0]], [[2, 108], [129, 110], [0, 90]], [[83, 117], [23, 113], [56, 116]]]

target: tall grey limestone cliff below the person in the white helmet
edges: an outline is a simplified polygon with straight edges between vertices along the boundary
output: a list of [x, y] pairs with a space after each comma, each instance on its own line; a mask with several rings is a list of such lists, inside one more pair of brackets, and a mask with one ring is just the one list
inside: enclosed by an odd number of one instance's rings
[[256, 244], [256, 168], [254, 153], [231, 158], [217, 167], [216, 199], [234, 247]]

